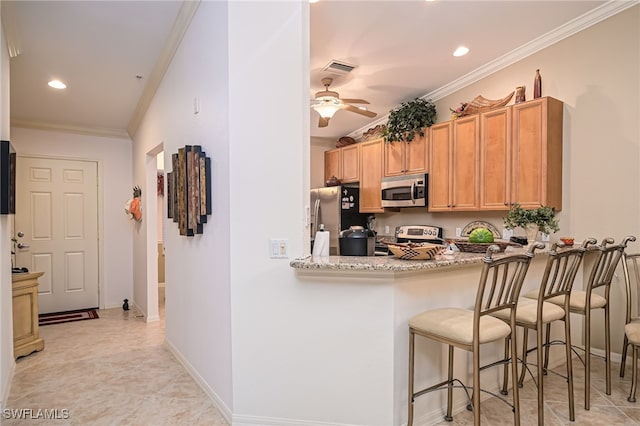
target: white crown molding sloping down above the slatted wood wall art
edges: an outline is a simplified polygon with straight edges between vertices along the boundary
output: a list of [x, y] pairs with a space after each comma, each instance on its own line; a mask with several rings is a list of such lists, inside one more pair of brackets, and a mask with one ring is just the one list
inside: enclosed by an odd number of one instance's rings
[[138, 131], [138, 126], [140, 126], [140, 122], [142, 121], [144, 114], [147, 112], [149, 105], [151, 105], [151, 101], [153, 100], [167, 69], [169, 69], [173, 56], [178, 50], [180, 42], [182, 42], [182, 38], [187, 32], [193, 16], [198, 10], [198, 6], [200, 6], [200, 0], [184, 0], [182, 2], [182, 6], [178, 11], [178, 16], [171, 28], [171, 33], [169, 34], [167, 43], [162, 49], [162, 52], [160, 52], [160, 56], [158, 57], [151, 74], [149, 74], [149, 77], [147, 78], [147, 84], [142, 91], [140, 100], [136, 105], [136, 109], [129, 121], [129, 125], [127, 126], [129, 135], [131, 135], [132, 138]]

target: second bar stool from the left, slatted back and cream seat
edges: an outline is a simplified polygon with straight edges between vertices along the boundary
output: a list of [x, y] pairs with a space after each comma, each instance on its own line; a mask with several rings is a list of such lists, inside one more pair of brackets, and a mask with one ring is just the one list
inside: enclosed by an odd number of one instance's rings
[[[595, 244], [596, 240], [591, 238], [585, 244]], [[569, 323], [569, 299], [566, 296], [571, 294], [571, 288], [575, 280], [582, 258], [585, 253], [585, 244], [583, 247], [574, 249], [558, 250], [558, 245], [562, 247], [562, 243], [556, 243], [549, 251], [549, 257], [542, 275], [540, 287], [526, 294], [526, 297], [518, 301], [516, 309], [516, 326], [524, 329], [522, 338], [522, 370], [518, 379], [518, 386], [522, 387], [524, 383], [525, 372], [529, 370], [527, 355], [529, 352], [537, 351], [536, 370], [537, 375], [534, 378], [538, 388], [538, 424], [544, 425], [544, 374], [546, 366], [543, 367], [543, 350], [547, 359], [549, 357], [547, 345], [543, 344], [544, 329], [546, 326], [547, 336], [554, 321], [564, 321], [564, 337], [565, 337], [565, 356], [566, 356], [566, 379], [567, 379], [567, 395], [569, 397], [569, 419], [575, 420], [575, 407], [573, 402], [573, 369], [571, 362], [571, 335]], [[565, 300], [563, 306], [558, 306], [547, 300], [554, 297], [562, 297]], [[498, 311], [494, 314], [496, 317], [509, 321], [508, 312]], [[536, 332], [536, 346], [532, 349], [528, 348], [528, 331]], [[513, 342], [513, 341], [512, 341]], [[509, 340], [505, 342], [505, 358], [508, 356]], [[531, 372], [530, 372], [531, 374]], [[502, 393], [506, 394], [507, 379], [509, 371], [505, 366], [504, 384]], [[533, 377], [533, 374], [532, 374]], [[515, 379], [514, 379], [515, 381]]]

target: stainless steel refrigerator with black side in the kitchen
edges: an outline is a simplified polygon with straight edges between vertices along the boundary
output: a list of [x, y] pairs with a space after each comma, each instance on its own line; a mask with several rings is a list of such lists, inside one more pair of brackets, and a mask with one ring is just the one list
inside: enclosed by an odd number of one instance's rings
[[329, 231], [329, 254], [339, 254], [340, 231], [351, 226], [367, 226], [369, 214], [360, 213], [360, 189], [329, 186], [311, 190], [311, 247], [320, 224]]

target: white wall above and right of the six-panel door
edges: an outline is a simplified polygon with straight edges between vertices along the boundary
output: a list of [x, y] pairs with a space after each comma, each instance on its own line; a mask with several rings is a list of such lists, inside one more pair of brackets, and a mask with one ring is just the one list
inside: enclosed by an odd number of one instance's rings
[[125, 298], [133, 302], [132, 235], [137, 224], [124, 213], [124, 204], [133, 196], [132, 187], [138, 184], [131, 179], [131, 141], [12, 127], [11, 142], [18, 155], [99, 161], [104, 291], [100, 307], [122, 306]]

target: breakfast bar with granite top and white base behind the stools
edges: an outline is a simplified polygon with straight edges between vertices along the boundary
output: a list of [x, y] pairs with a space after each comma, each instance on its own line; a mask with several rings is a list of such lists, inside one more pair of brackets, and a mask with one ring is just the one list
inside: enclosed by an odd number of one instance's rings
[[[502, 256], [505, 254], [494, 255]], [[409, 319], [428, 309], [472, 307], [483, 257], [484, 253], [455, 252], [427, 261], [393, 256], [309, 256], [290, 261], [300, 290], [312, 297], [296, 318], [309, 336], [298, 346], [300, 356], [314, 363], [314, 371], [306, 379], [308, 383], [335, 384], [325, 404], [349, 401], [343, 416], [331, 421], [406, 424]], [[523, 291], [537, 288], [546, 259], [544, 252], [537, 253]], [[578, 280], [576, 285], [581, 286]], [[442, 380], [446, 347], [418, 339], [416, 348], [416, 385]], [[502, 351], [502, 344], [483, 346], [481, 361], [495, 360]], [[466, 383], [472, 381], [470, 364], [467, 353], [456, 351], [456, 376]], [[497, 390], [500, 372], [497, 368], [483, 371], [483, 387]], [[417, 424], [442, 421], [443, 398], [446, 392], [419, 398], [415, 404]], [[462, 394], [454, 401], [456, 409], [465, 409]]]

